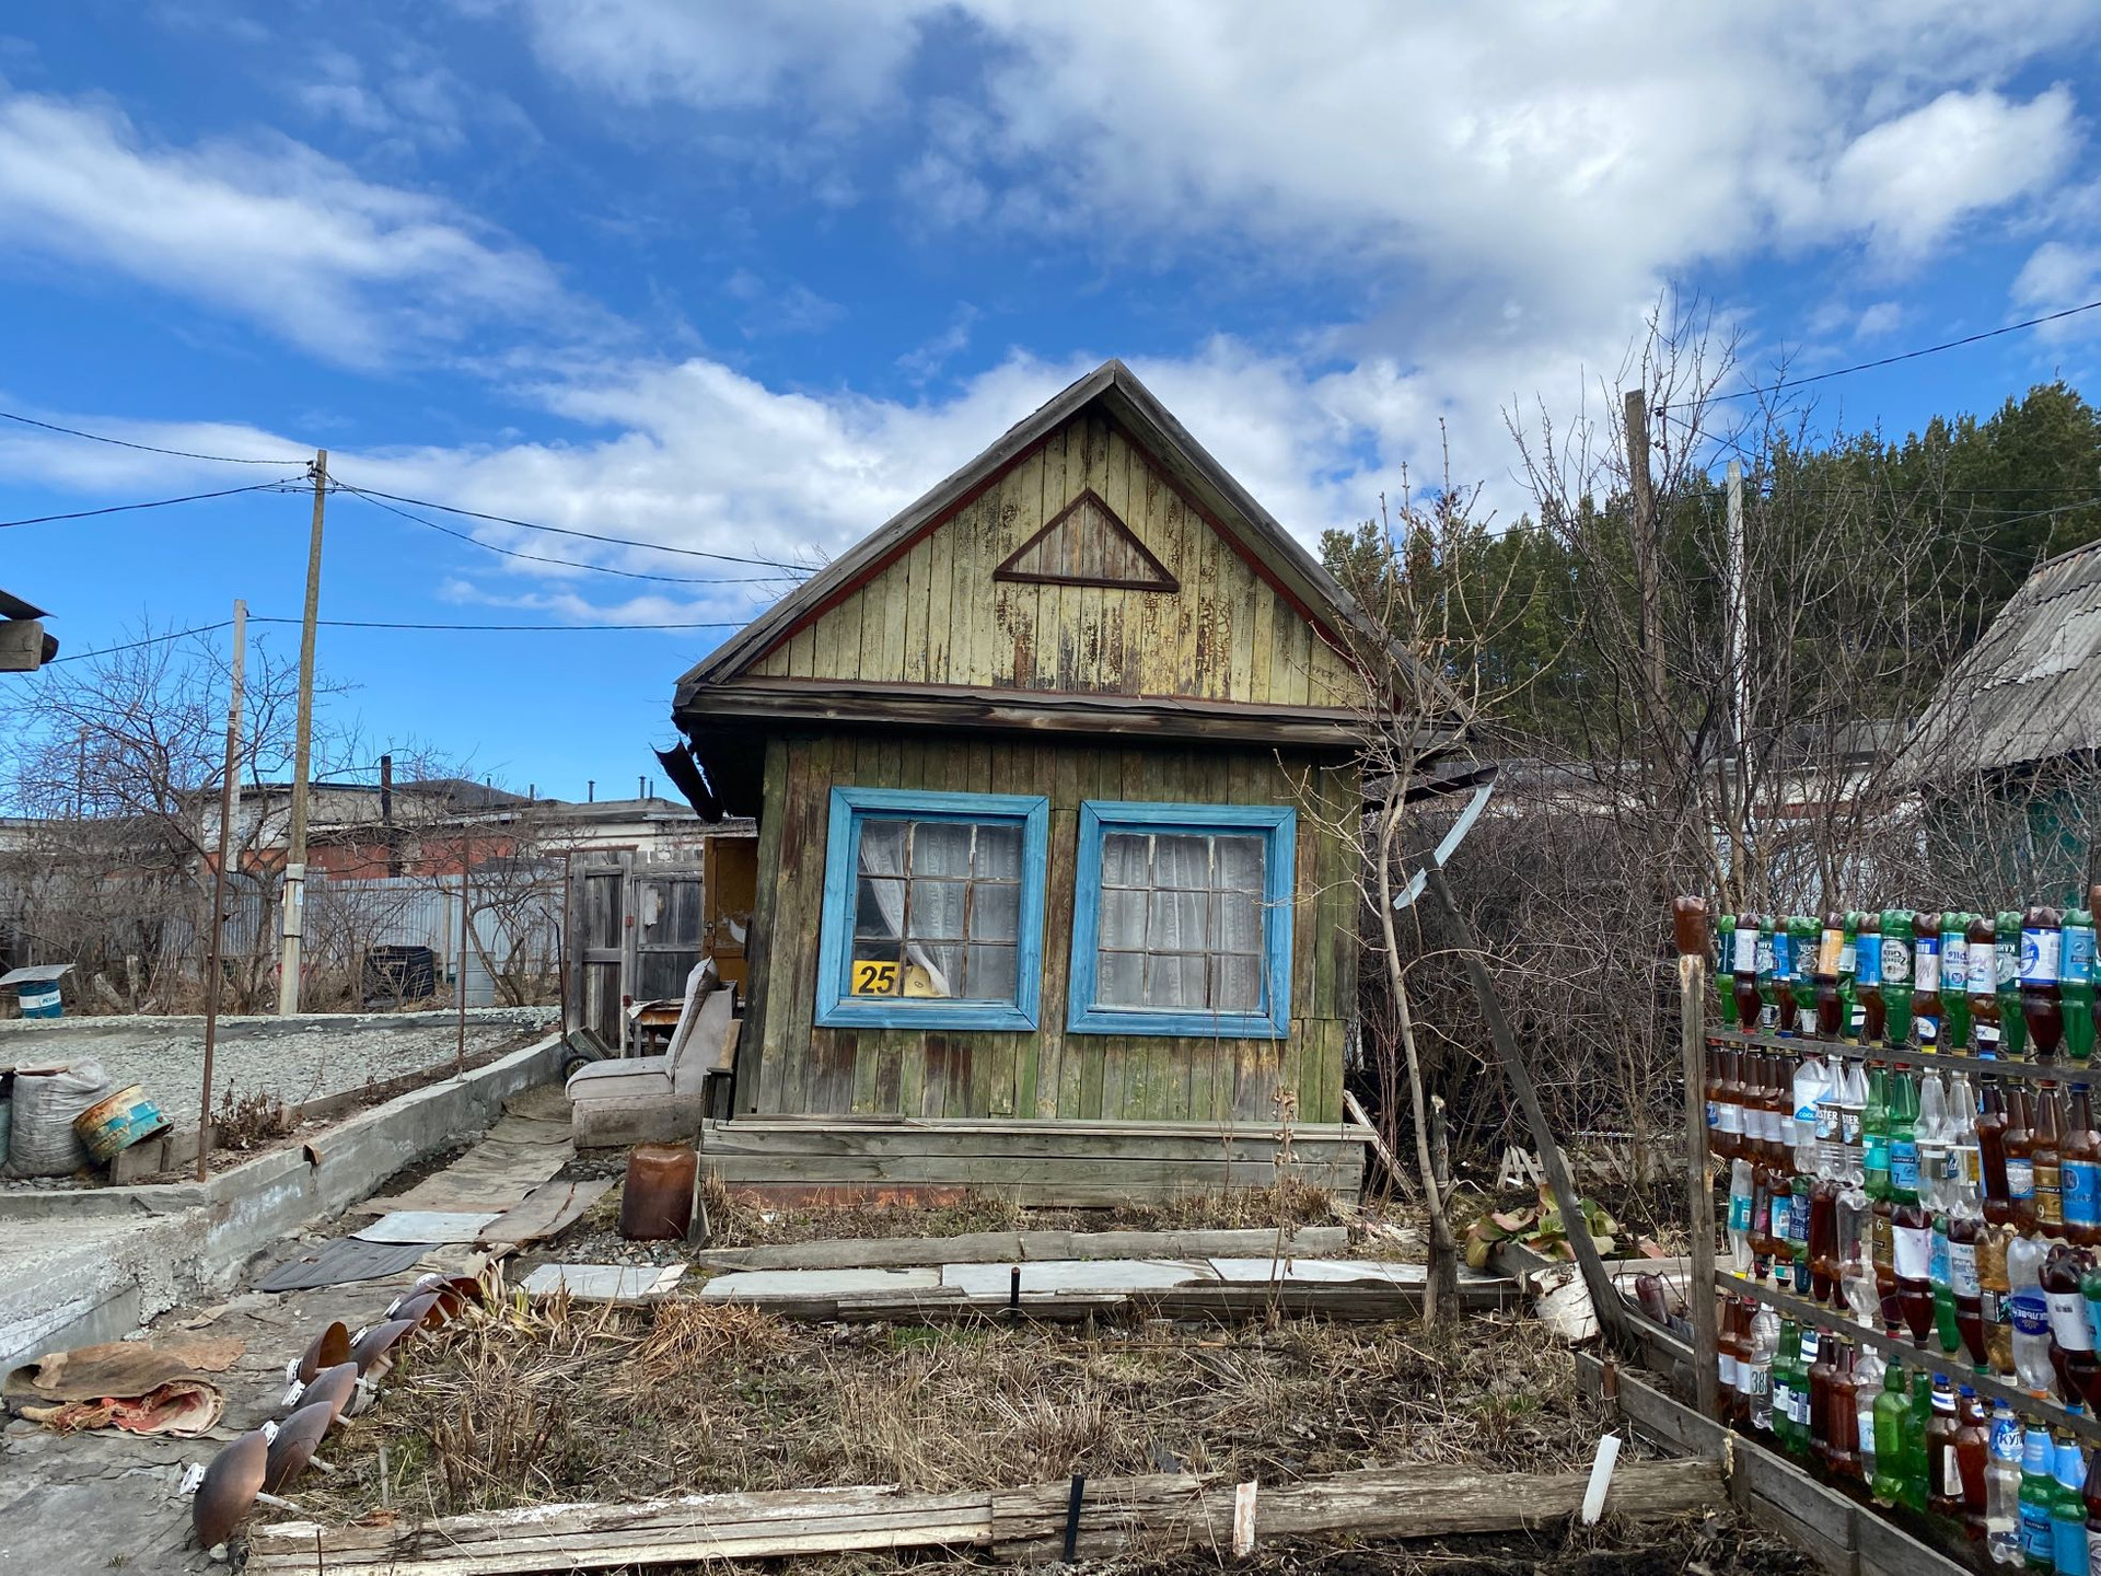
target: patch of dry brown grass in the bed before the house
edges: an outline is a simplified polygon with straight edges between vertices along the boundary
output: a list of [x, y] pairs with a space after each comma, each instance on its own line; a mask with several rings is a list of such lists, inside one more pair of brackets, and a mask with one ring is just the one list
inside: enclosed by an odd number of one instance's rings
[[[941, 1492], [1187, 1467], [1263, 1481], [1376, 1463], [1588, 1460], [1599, 1423], [1534, 1324], [798, 1326], [693, 1301], [506, 1305], [424, 1347], [357, 1418], [328, 1515], [903, 1484]], [[309, 1492], [309, 1498], [317, 1496]]]

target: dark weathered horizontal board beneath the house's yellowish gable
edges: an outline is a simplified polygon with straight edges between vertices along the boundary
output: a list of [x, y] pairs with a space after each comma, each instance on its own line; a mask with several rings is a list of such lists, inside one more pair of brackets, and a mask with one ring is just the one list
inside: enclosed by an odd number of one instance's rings
[[786, 725], [996, 727], [1019, 733], [1143, 735], [1353, 750], [1361, 731], [1345, 706], [1250, 706], [1174, 696], [1103, 696], [966, 685], [855, 685], [826, 679], [740, 679], [689, 696], [685, 729], [725, 721]]

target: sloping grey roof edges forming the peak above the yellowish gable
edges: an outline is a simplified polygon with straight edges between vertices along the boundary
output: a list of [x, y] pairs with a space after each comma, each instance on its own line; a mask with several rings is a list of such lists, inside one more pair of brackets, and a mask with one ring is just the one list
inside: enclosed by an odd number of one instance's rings
[[1248, 490], [1174, 420], [1128, 366], [1111, 359], [1008, 427], [992, 448], [729, 637], [679, 681], [674, 708], [685, 708], [700, 689], [735, 679], [794, 635], [805, 620], [824, 614], [895, 563], [922, 534], [935, 530], [1090, 406], [1101, 406], [1111, 420], [1120, 422], [1206, 515], [1212, 530], [1248, 559], [1256, 574], [1275, 584], [1315, 630], [1336, 643], [1349, 628], [1366, 639], [1382, 639], [1380, 630], [1319, 561], [1267, 509], [1254, 502]]

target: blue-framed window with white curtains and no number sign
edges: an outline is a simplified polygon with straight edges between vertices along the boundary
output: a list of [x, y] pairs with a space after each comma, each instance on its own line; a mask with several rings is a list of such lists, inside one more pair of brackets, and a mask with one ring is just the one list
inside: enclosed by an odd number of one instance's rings
[[1082, 803], [1065, 1028], [1288, 1038], [1296, 834], [1288, 805]]

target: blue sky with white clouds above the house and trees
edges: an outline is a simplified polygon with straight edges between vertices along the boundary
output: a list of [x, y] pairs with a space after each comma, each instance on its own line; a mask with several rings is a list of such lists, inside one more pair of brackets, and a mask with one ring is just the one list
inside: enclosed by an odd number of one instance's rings
[[[819, 563], [1105, 355], [1305, 540], [1668, 284], [1748, 378], [2101, 296], [2101, 6], [128, 0], [0, 19], [0, 410]], [[1817, 389], [1901, 433], [2086, 385], [2101, 313]], [[0, 519], [296, 477], [0, 422]], [[429, 513], [429, 511], [418, 511]], [[338, 494], [324, 616], [735, 622], [784, 578]], [[69, 651], [298, 611], [307, 502], [0, 534]], [[725, 630], [727, 633], [727, 630]], [[292, 633], [265, 633], [290, 647]], [[706, 630], [324, 630], [372, 742], [632, 788]], [[19, 706], [11, 687], [0, 706]]]

